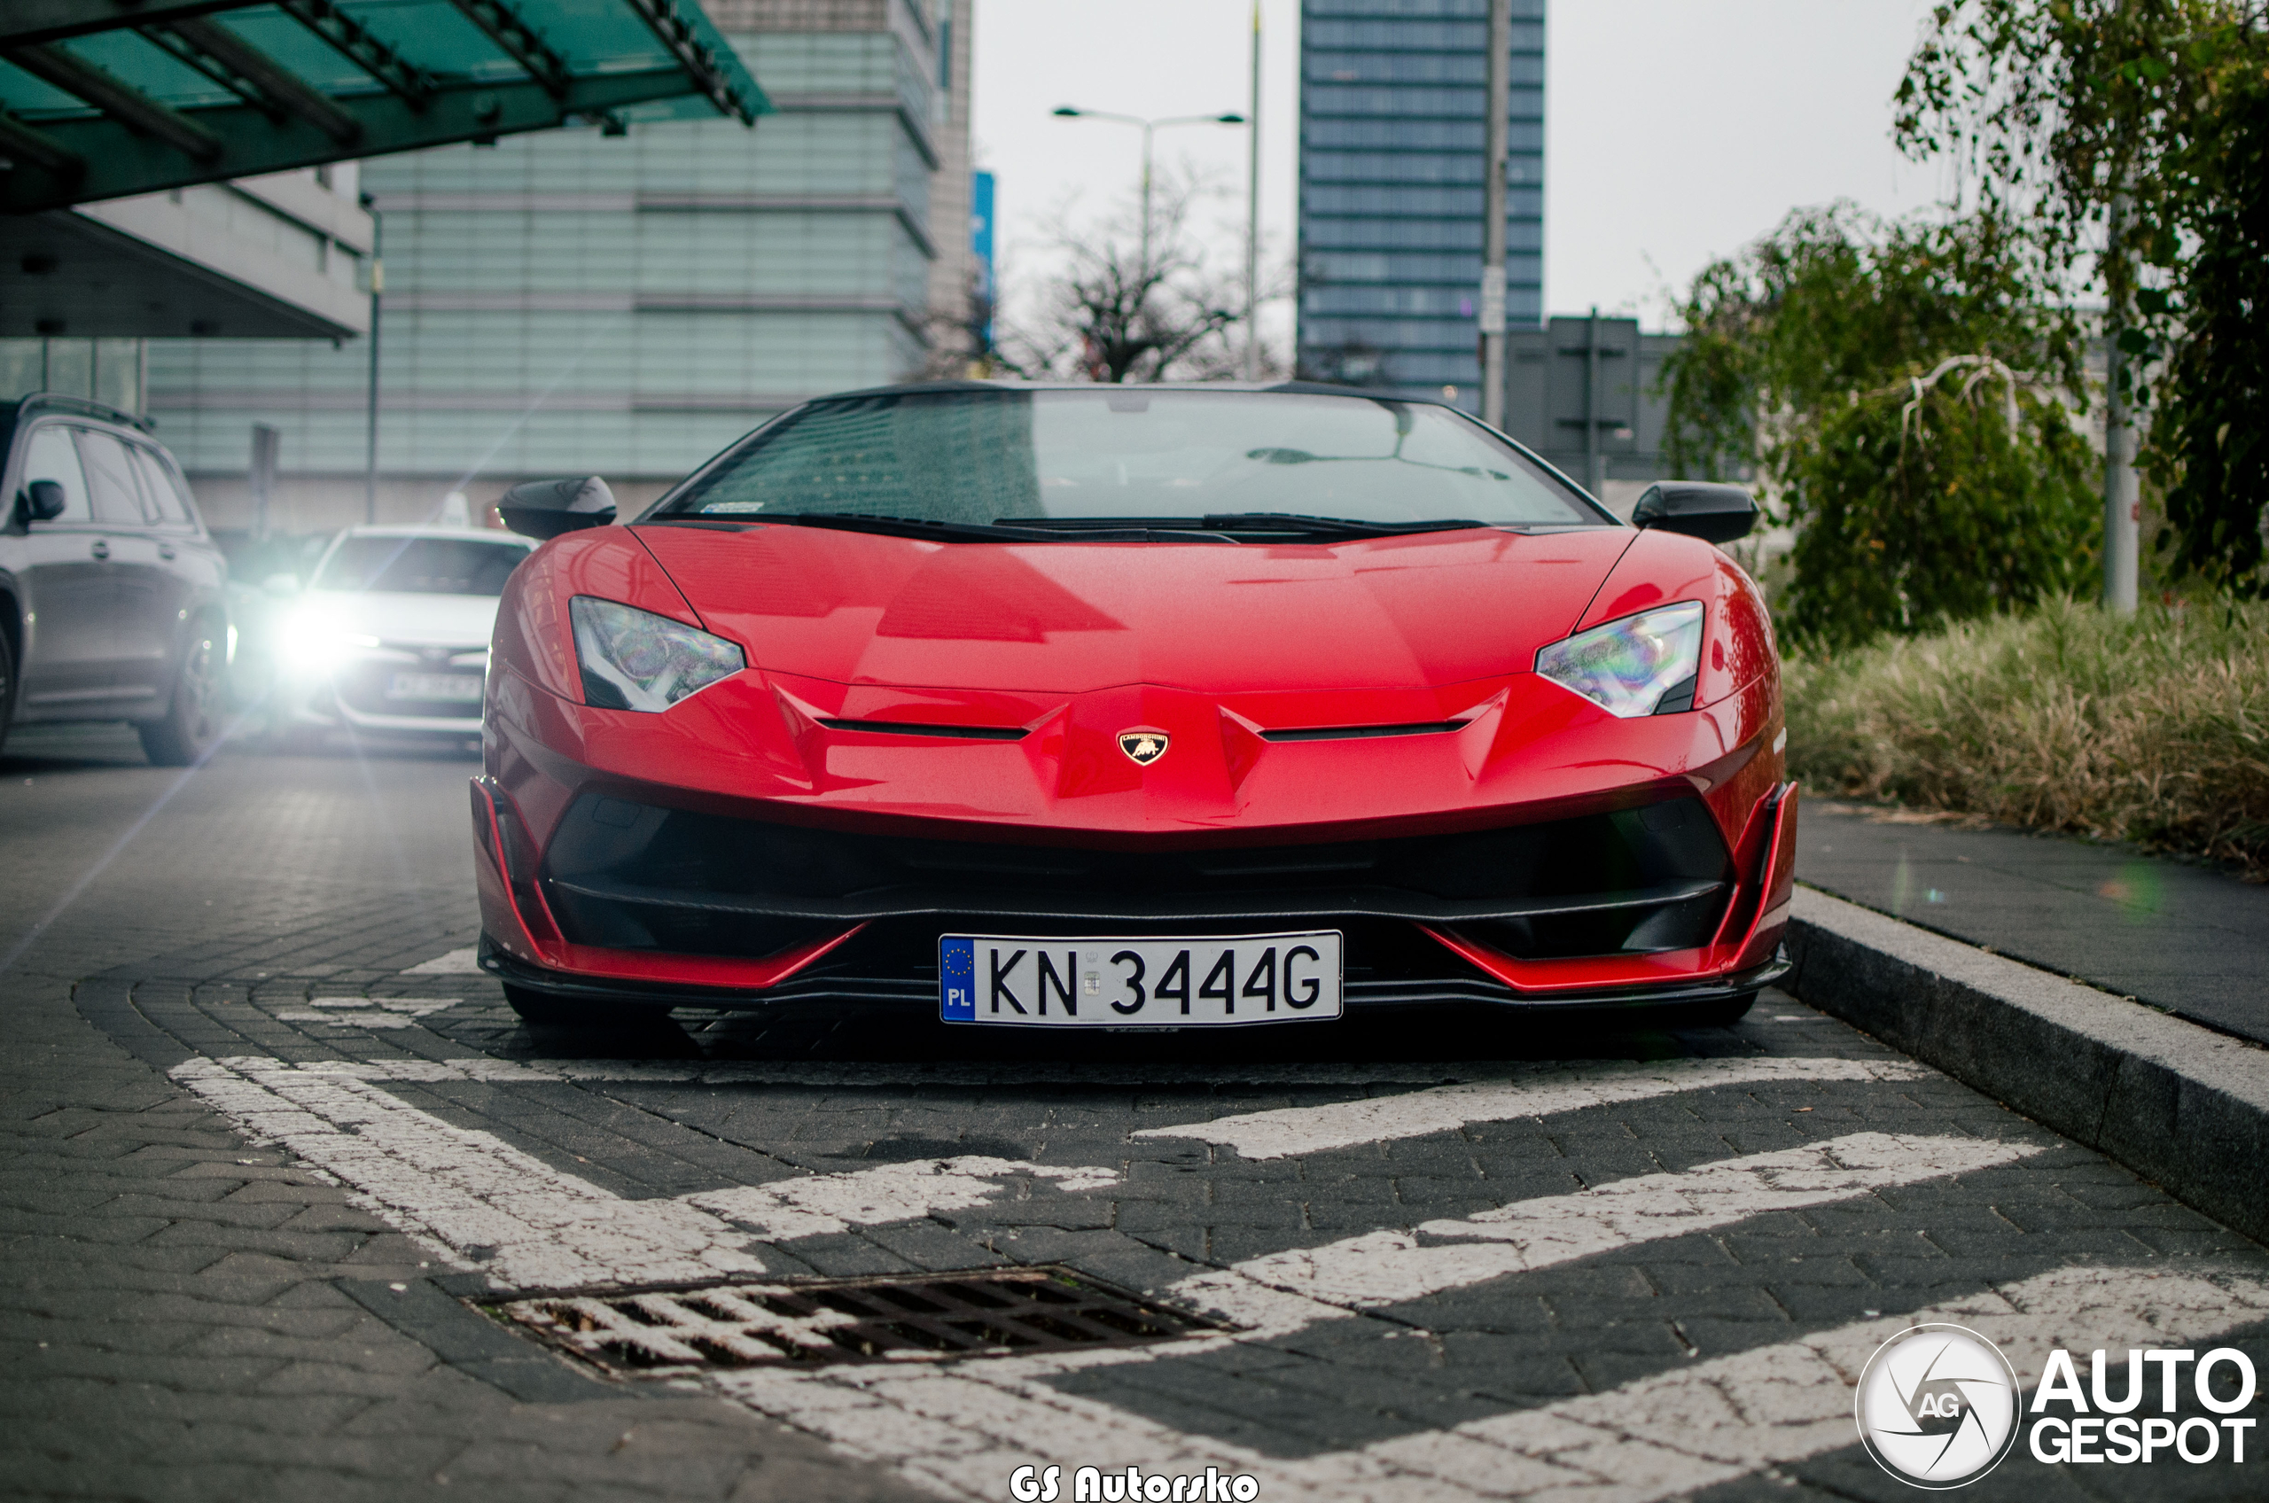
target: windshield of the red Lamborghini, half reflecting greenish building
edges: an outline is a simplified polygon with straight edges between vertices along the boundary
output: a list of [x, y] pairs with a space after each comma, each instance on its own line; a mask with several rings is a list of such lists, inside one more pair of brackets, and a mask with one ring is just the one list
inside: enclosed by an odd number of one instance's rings
[[1300, 515], [1611, 524], [1457, 413], [1241, 391], [953, 391], [812, 402], [656, 515], [858, 513], [953, 524]]

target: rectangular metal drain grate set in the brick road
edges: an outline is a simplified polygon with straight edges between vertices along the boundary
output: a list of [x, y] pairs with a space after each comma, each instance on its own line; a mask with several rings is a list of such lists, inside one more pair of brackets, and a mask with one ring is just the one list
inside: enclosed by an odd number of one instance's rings
[[1060, 1267], [556, 1294], [497, 1315], [617, 1371], [935, 1362], [1221, 1330]]

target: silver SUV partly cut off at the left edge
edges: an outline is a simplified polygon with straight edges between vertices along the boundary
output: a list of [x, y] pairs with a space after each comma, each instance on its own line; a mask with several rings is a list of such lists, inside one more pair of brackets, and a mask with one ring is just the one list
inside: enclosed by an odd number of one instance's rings
[[9, 724], [127, 720], [186, 767], [220, 738], [227, 561], [182, 465], [100, 402], [0, 402], [0, 740]]

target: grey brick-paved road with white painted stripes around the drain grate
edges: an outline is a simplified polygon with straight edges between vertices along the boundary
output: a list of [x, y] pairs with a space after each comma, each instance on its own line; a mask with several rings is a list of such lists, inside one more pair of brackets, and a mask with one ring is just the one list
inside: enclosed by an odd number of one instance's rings
[[[177, 786], [136, 761], [0, 761], [7, 1496], [1005, 1498], [1094, 1462], [1890, 1498], [1845, 1380], [1917, 1315], [2026, 1380], [2110, 1349], [2115, 1396], [2128, 1346], [2269, 1362], [2262, 1249], [1786, 997], [1616, 1035], [533, 1033], [447, 963], [465, 763], [227, 754], [118, 845]], [[1237, 1333], [622, 1383], [467, 1303], [1039, 1262]], [[2251, 1437], [2019, 1446], [1965, 1496], [2269, 1496]]]

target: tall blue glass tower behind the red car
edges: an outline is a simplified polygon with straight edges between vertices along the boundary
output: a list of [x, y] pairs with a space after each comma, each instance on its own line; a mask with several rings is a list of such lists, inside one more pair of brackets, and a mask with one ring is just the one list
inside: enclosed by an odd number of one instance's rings
[[[1302, 0], [1300, 372], [1479, 406], [1488, 0]], [[1545, 0], [1513, 0], [1504, 316], [1543, 316]]]

